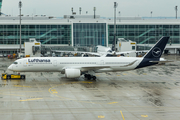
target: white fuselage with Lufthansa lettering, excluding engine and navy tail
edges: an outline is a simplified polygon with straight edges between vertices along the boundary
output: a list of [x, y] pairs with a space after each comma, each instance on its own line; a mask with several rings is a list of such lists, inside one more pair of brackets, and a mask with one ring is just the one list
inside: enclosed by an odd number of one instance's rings
[[8, 69], [16, 72], [62, 72], [80, 69], [81, 72], [127, 71], [135, 69], [143, 58], [138, 57], [31, 57], [16, 60]]

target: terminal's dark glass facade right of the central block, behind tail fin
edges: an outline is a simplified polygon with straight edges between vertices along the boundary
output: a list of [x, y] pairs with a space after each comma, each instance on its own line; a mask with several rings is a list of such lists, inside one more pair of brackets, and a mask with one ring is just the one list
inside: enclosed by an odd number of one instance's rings
[[[137, 44], [155, 44], [162, 36], [170, 36], [172, 44], [180, 44], [180, 25], [117, 25], [116, 38], [136, 41]], [[108, 26], [109, 44], [114, 38], [114, 25]]]

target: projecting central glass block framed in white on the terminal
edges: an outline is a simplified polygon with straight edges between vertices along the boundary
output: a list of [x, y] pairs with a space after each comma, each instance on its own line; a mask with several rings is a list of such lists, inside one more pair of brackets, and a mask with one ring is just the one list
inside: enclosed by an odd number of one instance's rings
[[106, 46], [106, 23], [74, 23], [74, 46]]

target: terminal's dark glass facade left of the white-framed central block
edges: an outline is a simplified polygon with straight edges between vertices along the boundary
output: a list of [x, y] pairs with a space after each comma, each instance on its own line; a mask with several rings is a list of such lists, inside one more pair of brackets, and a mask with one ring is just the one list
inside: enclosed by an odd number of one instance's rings
[[[22, 44], [36, 38], [42, 44], [68, 44], [71, 25], [22, 25]], [[19, 44], [19, 25], [0, 25], [0, 45]]]

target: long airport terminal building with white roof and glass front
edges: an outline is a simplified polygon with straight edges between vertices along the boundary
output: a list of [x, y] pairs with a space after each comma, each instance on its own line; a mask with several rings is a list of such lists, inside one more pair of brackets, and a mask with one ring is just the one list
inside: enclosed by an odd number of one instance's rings
[[[114, 20], [96, 15], [65, 15], [64, 18], [24, 16], [21, 21], [22, 47], [29, 38], [36, 38], [45, 46], [111, 46], [114, 38]], [[20, 43], [19, 17], [0, 17], [0, 49], [8, 54], [17, 52]], [[179, 19], [143, 19], [119, 17], [116, 20], [116, 38], [125, 38], [137, 44], [155, 44], [161, 36], [170, 36], [169, 48], [180, 48]]]

